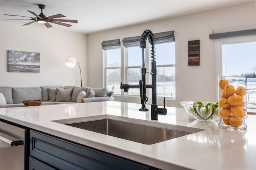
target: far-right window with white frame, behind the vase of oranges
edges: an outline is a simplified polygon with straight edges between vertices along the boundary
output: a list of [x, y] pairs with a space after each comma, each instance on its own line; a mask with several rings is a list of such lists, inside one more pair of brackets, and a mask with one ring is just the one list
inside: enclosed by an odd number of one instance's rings
[[217, 41], [218, 76], [247, 77], [247, 107], [256, 109], [256, 36]]

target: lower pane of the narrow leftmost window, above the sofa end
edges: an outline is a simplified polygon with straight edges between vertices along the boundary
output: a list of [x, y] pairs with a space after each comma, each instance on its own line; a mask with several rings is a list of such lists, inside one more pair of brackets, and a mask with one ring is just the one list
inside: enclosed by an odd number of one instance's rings
[[106, 87], [108, 90], [112, 90], [114, 86], [114, 94], [121, 94], [120, 82], [120, 68], [106, 68]]

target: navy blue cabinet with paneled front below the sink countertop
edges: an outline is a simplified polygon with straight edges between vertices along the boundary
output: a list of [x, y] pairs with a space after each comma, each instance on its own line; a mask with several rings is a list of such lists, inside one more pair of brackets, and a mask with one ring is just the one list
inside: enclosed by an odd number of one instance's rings
[[30, 169], [41, 170], [153, 170], [120, 156], [30, 131]]

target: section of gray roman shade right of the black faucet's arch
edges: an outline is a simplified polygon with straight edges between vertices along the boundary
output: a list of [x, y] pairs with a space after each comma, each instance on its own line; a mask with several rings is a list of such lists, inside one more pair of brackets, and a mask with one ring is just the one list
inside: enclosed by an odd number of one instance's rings
[[174, 31], [167, 31], [162, 33], [155, 33], [154, 39], [156, 44], [160, 43], [170, 43], [175, 41], [175, 32]]

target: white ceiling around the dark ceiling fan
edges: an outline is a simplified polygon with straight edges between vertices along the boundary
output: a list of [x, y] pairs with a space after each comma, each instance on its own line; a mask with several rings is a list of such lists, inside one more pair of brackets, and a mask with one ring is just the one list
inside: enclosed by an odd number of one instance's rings
[[[0, 20], [21, 19], [5, 16], [12, 14], [34, 17], [30, 12], [40, 14], [38, 4], [46, 5], [45, 16], [63, 14], [67, 20], [78, 20], [71, 27], [32, 23], [24, 27], [45, 27], [79, 33], [94, 33], [107, 29], [126, 27], [225, 6], [242, 4], [254, 0], [0, 0]], [[23, 18], [22, 18], [23, 19]], [[26, 19], [26, 18], [24, 18]], [[23, 25], [29, 20], [4, 21]]]

